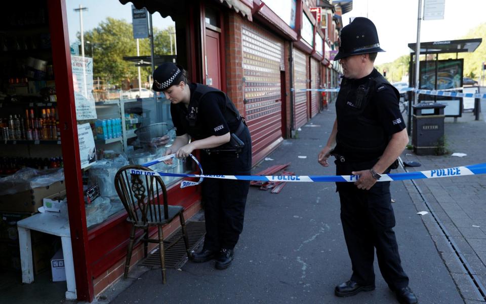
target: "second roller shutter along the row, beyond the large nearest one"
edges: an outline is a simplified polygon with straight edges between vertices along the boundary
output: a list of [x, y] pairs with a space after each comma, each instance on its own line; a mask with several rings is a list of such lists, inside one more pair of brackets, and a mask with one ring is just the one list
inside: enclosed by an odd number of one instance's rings
[[302, 127], [307, 122], [307, 64], [306, 55], [294, 48], [294, 126]]

